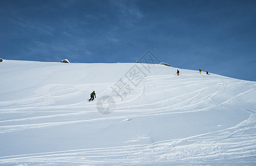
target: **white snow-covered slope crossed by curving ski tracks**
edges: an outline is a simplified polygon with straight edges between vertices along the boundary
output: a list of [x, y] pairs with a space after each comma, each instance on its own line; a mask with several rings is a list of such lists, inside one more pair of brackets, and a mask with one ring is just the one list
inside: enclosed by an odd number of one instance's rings
[[0, 165], [254, 165], [256, 82], [179, 71], [4, 60]]

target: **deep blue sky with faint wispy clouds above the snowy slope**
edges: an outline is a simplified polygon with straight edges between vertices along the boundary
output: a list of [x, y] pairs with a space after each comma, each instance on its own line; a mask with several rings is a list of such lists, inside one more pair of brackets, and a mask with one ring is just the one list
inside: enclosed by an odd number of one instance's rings
[[0, 1], [3, 59], [128, 63], [148, 50], [176, 68], [256, 81], [256, 1]]

